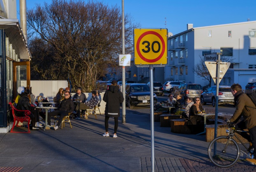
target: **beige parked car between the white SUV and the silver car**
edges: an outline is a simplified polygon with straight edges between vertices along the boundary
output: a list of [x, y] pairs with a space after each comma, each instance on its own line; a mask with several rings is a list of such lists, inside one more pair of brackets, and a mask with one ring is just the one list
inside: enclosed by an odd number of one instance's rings
[[178, 87], [181, 95], [186, 99], [187, 97], [195, 99], [195, 97], [200, 97], [203, 93], [202, 86], [197, 83], [184, 83]]

